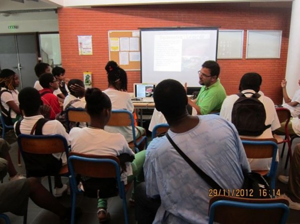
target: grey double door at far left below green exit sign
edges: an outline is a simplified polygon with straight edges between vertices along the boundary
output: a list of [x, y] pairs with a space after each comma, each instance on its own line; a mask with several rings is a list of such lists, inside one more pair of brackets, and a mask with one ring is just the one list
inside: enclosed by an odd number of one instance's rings
[[0, 68], [11, 69], [20, 76], [19, 90], [34, 86], [38, 62], [35, 34], [0, 36]]

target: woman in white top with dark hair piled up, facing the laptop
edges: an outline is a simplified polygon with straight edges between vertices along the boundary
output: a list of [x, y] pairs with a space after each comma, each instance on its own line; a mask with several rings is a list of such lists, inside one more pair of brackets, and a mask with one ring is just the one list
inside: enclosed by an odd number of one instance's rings
[[[108, 95], [112, 102], [113, 110], [128, 110], [131, 113], [134, 112], [134, 105], [131, 102], [130, 95], [127, 91], [127, 75], [126, 72], [117, 66], [115, 61], [109, 61], [106, 67], [108, 72], [108, 89], [103, 92]], [[121, 133], [126, 141], [132, 142], [132, 129], [131, 126], [114, 127], [106, 126], [105, 130], [110, 133]], [[136, 126], [136, 137], [139, 138], [145, 135], [146, 131], [143, 127]]]

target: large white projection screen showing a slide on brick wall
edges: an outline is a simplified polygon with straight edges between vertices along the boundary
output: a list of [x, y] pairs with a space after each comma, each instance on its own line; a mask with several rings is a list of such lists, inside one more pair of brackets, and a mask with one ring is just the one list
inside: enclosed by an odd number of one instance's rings
[[197, 71], [216, 60], [218, 29], [141, 29], [142, 82], [176, 79], [199, 86]]

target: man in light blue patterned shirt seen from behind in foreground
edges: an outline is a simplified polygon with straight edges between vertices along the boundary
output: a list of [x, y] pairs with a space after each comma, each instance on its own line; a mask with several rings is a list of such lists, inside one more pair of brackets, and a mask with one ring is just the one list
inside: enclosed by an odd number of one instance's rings
[[[243, 172], [250, 167], [234, 125], [217, 115], [189, 115], [186, 91], [176, 80], [160, 82], [154, 89], [154, 102], [170, 125], [168, 134], [196, 166], [223, 189], [242, 187]], [[138, 223], [208, 223], [212, 187], [166, 136], [155, 138], [147, 147], [144, 174], [146, 182], [137, 186], [135, 194]]]

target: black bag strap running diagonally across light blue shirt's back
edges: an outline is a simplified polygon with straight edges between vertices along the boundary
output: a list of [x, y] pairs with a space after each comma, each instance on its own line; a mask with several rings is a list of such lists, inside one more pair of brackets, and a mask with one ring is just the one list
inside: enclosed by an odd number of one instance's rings
[[201, 176], [211, 187], [214, 189], [222, 190], [223, 188], [214, 181], [210, 176], [208, 176], [203, 170], [201, 170], [197, 165], [195, 165], [191, 159], [184, 154], [184, 152], [175, 144], [175, 142], [171, 139], [168, 132], [165, 134], [166, 138], [170, 141], [170, 143], [173, 145], [173, 147], [176, 149], [176, 151], [184, 158], [184, 160], [193, 168], [196, 173]]

